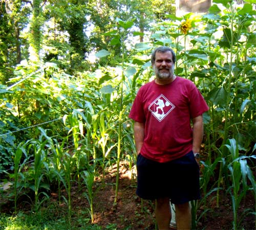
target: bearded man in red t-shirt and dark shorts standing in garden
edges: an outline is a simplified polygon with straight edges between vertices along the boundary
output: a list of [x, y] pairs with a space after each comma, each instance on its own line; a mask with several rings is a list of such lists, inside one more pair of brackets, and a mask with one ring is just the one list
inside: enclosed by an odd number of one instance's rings
[[169, 200], [175, 204], [177, 228], [191, 227], [189, 201], [200, 198], [202, 114], [209, 109], [194, 83], [174, 74], [175, 61], [168, 47], [153, 52], [156, 79], [139, 89], [129, 116], [135, 121], [136, 193], [143, 199], [156, 199], [159, 229], [169, 228]]

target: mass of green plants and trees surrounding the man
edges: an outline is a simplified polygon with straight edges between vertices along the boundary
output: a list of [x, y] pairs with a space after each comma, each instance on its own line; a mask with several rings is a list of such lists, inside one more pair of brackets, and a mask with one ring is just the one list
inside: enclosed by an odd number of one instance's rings
[[[56, 185], [58, 202], [64, 200], [68, 206], [68, 226], [62, 228], [68, 229], [73, 226], [72, 185], [77, 183], [81, 189], [84, 183], [93, 220], [96, 173], [102, 172], [104, 185], [113, 164], [119, 167], [127, 159], [132, 168], [136, 162], [128, 114], [138, 88], [152, 79], [152, 49], [169, 45], [177, 53], [176, 74], [194, 81], [210, 108], [204, 114], [203, 151], [207, 157], [201, 162], [200, 181], [204, 199], [193, 202], [194, 227], [209, 211], [206, 199], [216, 191], [218, 205], [221, 188], [232, 200], [233, 227], [240, 227], [241, 200], [248, 192], [256, 194], [251, 160], [255, 151], [255, 11], [251, 4], [237, 7], [232, 1], [214, 2], [222, 6], [214, 4], [202, 16], [177, 17], [161, 11], [164, 15], [159, 18], [164, 20], [151, 28], [148, 37], [142, 31], [151, 26], [147, 21], [151, 17], [146, 15], [155, 12], [161, 1], [154, 1], [152, 9], [148, 9], [150, 4], [139, 9], [136, 1], [49, 1], [42, 7], [40, 13], [47, 24], [44, 32], [40, 25], [37, 30], [44, 35], [46, 47], [38, 46], [37, 52], [44, 47], [45, 60], [52, 62], [22, 61], [12, 75], [3, 71], [0, 76], [0, 173], [14, 181], [15, 203], [20, 194], [32, 190], [30, 199], [35, 198], [33, 210], [38, 214], [47, 203], [49, 188]], [[169, 9], [170, 2], [166, 4]], [[140, 17], [131, 17], [124, 6]], [[0, 33], [8, 40], [15, 30], [9, 23], [14, 17], [4, 9]], [[84, 35], [89, 24], [94, 26], [91, 42]], [[139, 36], [147, 42], [139, 42]], [[1, 52], [13, 43], [1, 40]], [[97, 60], [89, 66], [84, 58], [91, 50]], [[3, 66], [9, 66], [7, 56], [5, 53], [0, 60]], [[3, 79], [9, 80], [8, 85]], [[61, 196], [63, 188], [67, 196]], [[198, 216], [201, 206], [205, 209]], [[28, 229], [37, 226], [35, 222], [26, 224]]]

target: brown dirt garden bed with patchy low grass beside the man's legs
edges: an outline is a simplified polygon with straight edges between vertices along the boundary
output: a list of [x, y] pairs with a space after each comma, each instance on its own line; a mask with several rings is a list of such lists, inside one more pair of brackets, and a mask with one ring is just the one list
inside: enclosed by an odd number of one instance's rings
[[[94, 183], [94, 222], [90, 223], [90, 215], [88, 212], [89, 203], [83, 195], [84, 188], [80, 191], [76, 183], [72, 187], [72, 229], [84, 228], [84, 221], [91, 226], [92, 229], [155, 229], [155, 214], [154, 202], [147, 200], [141, 201], [136, 196], [136, 181], [132, 178], [134, 171], [129, 170], [129, 167], [122, 164], [120, 168], [120, 186], [118, 193], [118, 201], [114, 204], [115, 197], [115, 177], [116, 168], [113, 167], [105, 175], [105, 183], [102, 184], [101, 175], [96, 177]], [[226, 196], [226, 191], [221, 191], [220, 206], [216, 208], [216, 193], [212, 193], [207, 199], [208, 211], [205, 217], [201, 218], [197, 224], [197, 229], [232, 229], [232, 206], [229, 196]], [[62, 195], [66, 196], [65, 190]], [[57, 191], [51, 191], [50, 199], [42, 204], [41, 213], [50, 213], [50, 218], [65, 218], [67, 214], [67, 205], [61, 199], [58, 203]], [[1, 197], [1, 213], [11, 215], [13, 212], [13, 202]], [[248, 193], [246, 199], [242, 202], [239, 209], [239, 218], [248, 209], [255, 209], [255, 200], [251, 193]], [[25, 215], [31, 214], [32, 206], [27, 196], [21, 196], [18, 200], [18, 211]], [[204, 207], [198, 210], [198, 216], [203, 212]], [[249, 214], [242, 218], [240, 229], [254, 229], [255, 215]], [[63, 224], [62, 229], [66, 224]], [[0, 228], [5, 229], [5, 228]], [[36, 229], [44, 229], [38, 228]], [[61, 223], [59, 228], [61, 229]]]

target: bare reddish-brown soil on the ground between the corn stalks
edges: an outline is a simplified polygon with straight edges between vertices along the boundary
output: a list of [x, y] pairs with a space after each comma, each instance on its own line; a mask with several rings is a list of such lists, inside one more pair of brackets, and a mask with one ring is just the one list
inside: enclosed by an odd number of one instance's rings
[[[117, 203], [115, 198], [116, 167], [109, 170], [102, 182], [102, 176], [96, 177], [94, 183], [94, 224], [102, 229], [156, 229], [154, 201], [141, 200], [136, 195], [136, 168], [129, 169], [128, 164], [120, 166], [119, 192]], [[72, 208], [75, 213], [84, 213], [89, 208], [89, 203], [83, 195], [84, 189], [79, 191], [78, 186], [72, 188]], [[226, 192], [226, 191], [225, 191]], [[232, 229], [232, 207], [229, 196], [221, 192], [220, 206], [216, 208], [216, 193], [211, 194], [207, 200], [207, 208], [210, 210], [203, 215], [197, 223], [197, 229]], [[63, 191], [63, 194], [65, 191]], [[57, 203], [57, 193], [50, 194], [52, 202]], [[248, 193], [239, 209], [239, 218], [247, 209], [255, 210], [255, 199]], [[66, 205], [66, 204], [62, 204]], [[22, 208], [20, 206], [20, 208]], [[2, 206], [2, 212], [10, 210], [9, 205]], [[204, 207], [199, 207], [198, 216], [202, 214]], [[87, 213], [87, 221], [90, 222]], [[250, 214], [243, 218], [240, 229], [254, 229], [255, 215]]]

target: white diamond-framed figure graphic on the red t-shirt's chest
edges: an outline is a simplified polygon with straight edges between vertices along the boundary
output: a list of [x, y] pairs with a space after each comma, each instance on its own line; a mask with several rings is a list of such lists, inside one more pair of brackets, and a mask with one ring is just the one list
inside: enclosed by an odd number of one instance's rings
[[175, 105], [162, 94], [148, 106], [148, 110], [152, 112], [158, 121], [162, 121], [174, 108]]

